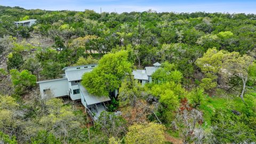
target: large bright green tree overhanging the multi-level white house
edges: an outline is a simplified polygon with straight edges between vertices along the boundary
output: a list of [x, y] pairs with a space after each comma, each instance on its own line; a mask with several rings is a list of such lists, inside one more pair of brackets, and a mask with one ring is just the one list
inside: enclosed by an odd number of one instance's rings
[[122, 79], [131, 74], [132, 63], [128, 60], [127, 51], [119, 51], [104, 55], [98, 67], [82, 77], [82, 85], [89, 93], [109, 95], [119, 88]]

